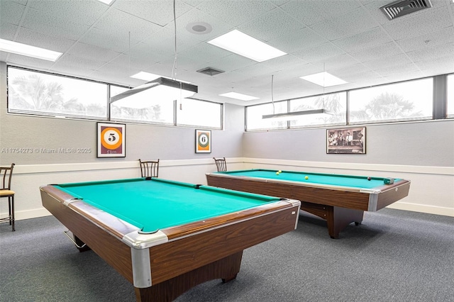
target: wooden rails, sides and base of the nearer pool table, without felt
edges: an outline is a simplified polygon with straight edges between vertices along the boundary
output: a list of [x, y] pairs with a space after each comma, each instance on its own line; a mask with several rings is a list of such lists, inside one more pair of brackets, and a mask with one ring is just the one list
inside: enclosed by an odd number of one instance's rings
[[[243, 250], [297, 226], [299, 201], [282, 199], [246, 211], [161, 230], [166, 242], [135, 249], [123, 236], [137, 231], [53, 186], [40, 188], [43, 206], [75, 237], [135, 286], [138, 301], [172, 301], [192, 286], [211, 279], [234, 279]], [[180, 211], [181, 209], [177, 209]], [[103, 212], [103, 213], [101, 213]], [[109, 218], [110, 216], [110, 218]], [[136, 281], [133, 254], [148, 250], [150, 283]], [[140, 273], [140, 272], [139, 272]]]

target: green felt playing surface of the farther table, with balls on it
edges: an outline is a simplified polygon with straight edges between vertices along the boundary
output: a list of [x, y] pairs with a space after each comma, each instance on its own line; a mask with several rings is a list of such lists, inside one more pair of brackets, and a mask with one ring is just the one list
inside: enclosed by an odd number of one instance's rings
[[[281, 181], [300, 181], [301, 183], [306, 184], [347, 186], [358, 189], [373, 189], [384, 184], [383, 177], [370, 177], [370, 180], [368, 180], [367, 177], [342, 174], [322, 174], [295, 171], [282, 171], [281, 173], [276, 174], [276, 172], [277, 170], [252, 169], [218, 173], [237, 177], [257, 177], [264, 179], [276, 179]], [[306, 179], [305, 177], [308, 177], [308, 179]]]

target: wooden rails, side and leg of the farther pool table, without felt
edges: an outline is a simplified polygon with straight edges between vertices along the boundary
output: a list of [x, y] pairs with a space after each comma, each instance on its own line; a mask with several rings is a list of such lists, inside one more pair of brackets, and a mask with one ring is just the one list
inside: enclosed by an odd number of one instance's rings
[[297, 199], [302, 211], [326, 220], [332, 238], [338, 238], [350, 223], [362, 223], [364, 211], [378, 211], [408, 196], [410, 188], [410, 182], [403, 179], [374, 189], [311, 186], [298, 181], [211, 173], [206, 174], [206, 181], [209, 186]]

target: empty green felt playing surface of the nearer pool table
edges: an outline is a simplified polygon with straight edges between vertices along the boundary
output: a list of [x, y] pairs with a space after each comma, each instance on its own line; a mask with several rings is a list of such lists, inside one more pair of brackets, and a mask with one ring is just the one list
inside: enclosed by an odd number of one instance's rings
[[154, 232], [279, 200], [163, 179], [91, 181], [57, 184], [56, 187], [135, 225], [143, 232]]

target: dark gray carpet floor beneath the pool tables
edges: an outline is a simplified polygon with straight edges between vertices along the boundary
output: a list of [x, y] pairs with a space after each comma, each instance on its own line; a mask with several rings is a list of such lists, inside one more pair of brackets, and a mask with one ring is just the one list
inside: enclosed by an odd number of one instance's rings
[[[0, 301], [135, 301], [94, 252], [79, 253], [52, 216], [0, 225]], [[208, 281], [197, 301], [454, 301], [454, 218], [366, 212], [340, 239], [301, 216], [297, 230], [245, 250], [236, 280]]]

